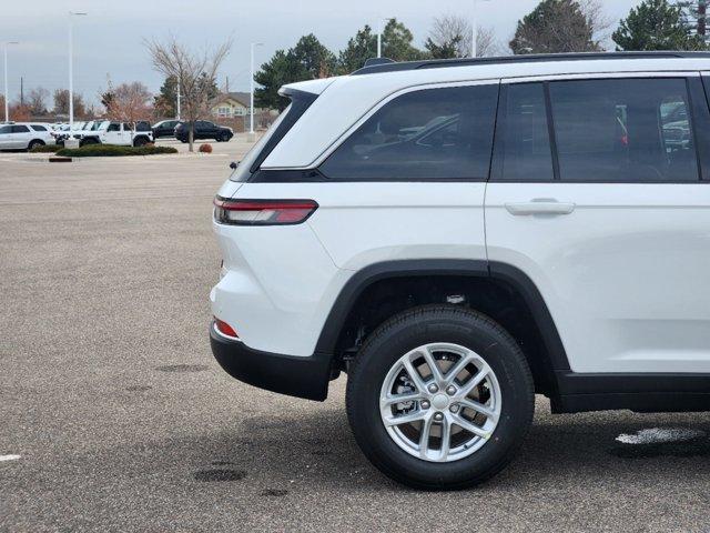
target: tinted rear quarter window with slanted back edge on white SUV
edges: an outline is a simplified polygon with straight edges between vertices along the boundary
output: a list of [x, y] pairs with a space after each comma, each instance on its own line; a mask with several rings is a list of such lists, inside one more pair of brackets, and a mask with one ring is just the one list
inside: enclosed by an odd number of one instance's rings
[[339, 180], [485, 180], [498, 86], [427, 89], [385, 104], [323, 163]]

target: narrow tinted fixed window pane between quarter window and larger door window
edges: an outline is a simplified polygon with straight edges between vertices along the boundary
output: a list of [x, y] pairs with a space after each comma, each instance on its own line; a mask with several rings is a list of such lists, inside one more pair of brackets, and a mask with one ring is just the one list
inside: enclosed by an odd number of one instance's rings
[[542, 84], [513, 83], [507, 93], [497, 141], [501, 179], [555, 179]]

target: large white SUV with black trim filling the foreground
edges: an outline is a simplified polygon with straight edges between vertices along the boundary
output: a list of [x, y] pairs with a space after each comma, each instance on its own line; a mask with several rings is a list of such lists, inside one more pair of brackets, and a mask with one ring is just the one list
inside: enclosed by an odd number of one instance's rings
[[710, 54], [365, 67], [215, 199], [220, 364], [324, 400], [384, 473], [460, 489], [555, 413], [710, 410]]

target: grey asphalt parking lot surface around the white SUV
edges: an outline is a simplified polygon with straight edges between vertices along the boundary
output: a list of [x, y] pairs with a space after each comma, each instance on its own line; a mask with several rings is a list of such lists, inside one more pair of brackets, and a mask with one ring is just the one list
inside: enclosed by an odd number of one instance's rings
[[[707, 413], [551, 415], [540, 398], [503, 474], [436, 494], [361, 455], [343, 378], [314, 403], [227, 376], [211, 202], [248, 143], [213, 147], [0, 153], [0, 531], [710, 531]], [[617, 440], [653, 428], [693, 433]]]

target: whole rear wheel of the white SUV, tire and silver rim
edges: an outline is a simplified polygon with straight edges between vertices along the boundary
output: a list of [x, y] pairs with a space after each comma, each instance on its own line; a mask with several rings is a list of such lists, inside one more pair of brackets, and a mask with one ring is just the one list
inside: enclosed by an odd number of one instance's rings
[[455, 490], [499, 472], [532, 420], [532, 378], [515, 340], [479, 313], [429, 305], [378, 328], [349, 369], [347, 414], [382, 472]]

